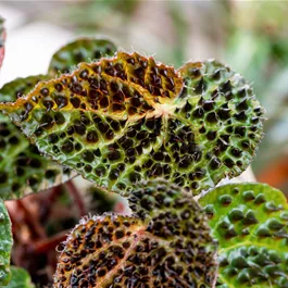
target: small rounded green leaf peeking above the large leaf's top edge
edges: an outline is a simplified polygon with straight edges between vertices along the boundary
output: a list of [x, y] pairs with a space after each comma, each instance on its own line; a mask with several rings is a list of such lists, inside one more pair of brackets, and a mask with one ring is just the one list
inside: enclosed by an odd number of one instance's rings
[[107, 39], [78, 38], [57, 51], [49, 65], [49, 75], [68, 73], [80, 62], [91, 62], [113, 55], [117, 48]]

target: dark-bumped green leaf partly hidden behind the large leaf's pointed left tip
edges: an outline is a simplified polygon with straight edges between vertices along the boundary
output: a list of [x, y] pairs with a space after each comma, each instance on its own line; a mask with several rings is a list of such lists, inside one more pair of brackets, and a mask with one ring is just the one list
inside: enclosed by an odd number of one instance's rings
[[[30, 91], [48, 76], [17, 78], [0, 89], [0, 101], [11, 102]], [[0, 197], [12, 199], [32, 191], [38, 192], [65, 181], [71, 176], [67, 168], [40, 155], [20, 128], [8, 116], [0, 114]]]

